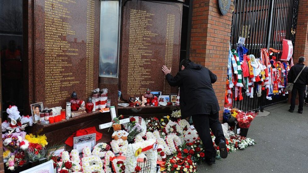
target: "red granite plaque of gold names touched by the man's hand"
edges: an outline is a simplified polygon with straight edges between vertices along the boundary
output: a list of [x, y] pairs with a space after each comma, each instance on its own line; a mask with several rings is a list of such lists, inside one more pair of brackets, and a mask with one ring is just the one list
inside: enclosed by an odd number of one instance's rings
[[123, 10], [120, 89], [123, 98], [140, 97], [147, 88], [177, 93], [162, 65], [179, 70], [182, 3], [128, 1]]

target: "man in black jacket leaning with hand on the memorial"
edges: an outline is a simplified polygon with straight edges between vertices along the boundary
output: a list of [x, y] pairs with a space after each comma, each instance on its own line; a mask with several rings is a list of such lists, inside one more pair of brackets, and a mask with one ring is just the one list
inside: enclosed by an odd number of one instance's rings
[[217, 77], [209, 69], [184, 59], [181, 71], [172, 76], [166, 66], [162, 71], [171, 86], [180, 86], [180, 107], [182, 119], [192, 116], [195, 128], [204, 144], [206, 162], [215, 163], [216, 150], [214, 149], [210, 128], [215, 135], [215, 143], [219, 146], [221, 158], [228, 156], [225, 136], [218, 120], [219, 105], [212, 87]]

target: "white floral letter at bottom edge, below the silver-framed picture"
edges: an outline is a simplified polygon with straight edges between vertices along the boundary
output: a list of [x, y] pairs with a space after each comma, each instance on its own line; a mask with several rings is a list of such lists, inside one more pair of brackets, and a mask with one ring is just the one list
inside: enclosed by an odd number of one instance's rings
[[103, 169], [104, 166], [103, 162], [101, 158], [96, 155], [90, 155], [82, 158], [81, 163], [82, 163], [83, 173], [92, 173], [92, 172], [105, 173]]

